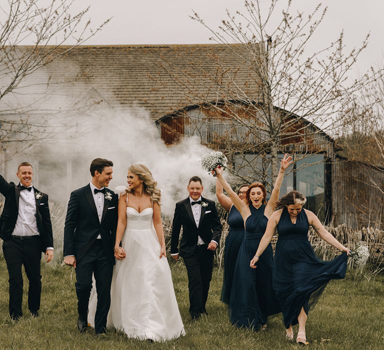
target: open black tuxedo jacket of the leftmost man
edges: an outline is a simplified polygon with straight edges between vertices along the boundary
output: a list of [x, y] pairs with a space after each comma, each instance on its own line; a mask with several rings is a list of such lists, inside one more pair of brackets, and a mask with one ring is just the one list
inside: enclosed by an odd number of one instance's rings
[[[36, 200], [36, 224], [41, 237], [41, 251], [53, 247], [52, 223], [50, 222], [48, 195], [33, 187], [34, 195], [41, 194]], [[0, 216], [0, 238], [10, 238], [18, 216], [18, 202], [20, 199], [20, 185], [7, 182], [0, 175], [0, 192], [5, 197], [4, 207]]]

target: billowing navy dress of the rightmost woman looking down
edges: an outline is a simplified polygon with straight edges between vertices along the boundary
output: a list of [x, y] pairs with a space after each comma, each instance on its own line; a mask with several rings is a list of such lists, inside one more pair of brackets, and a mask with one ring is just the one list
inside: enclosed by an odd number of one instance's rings
[[[345, 252], [330, 261], [320, 260], [308, 240], [308, 218], [302, 209], [292, 223], [283, 208], [277, 224], [278, 240], [273, 261], [273, 288], [286, 328], [297, 324], [301, 307], [306, 314], [331, 279], [345, 277]], [[262, 254], [263, 255], [263, 254]], [[262, 256], [261, 255], [261, 256]]]

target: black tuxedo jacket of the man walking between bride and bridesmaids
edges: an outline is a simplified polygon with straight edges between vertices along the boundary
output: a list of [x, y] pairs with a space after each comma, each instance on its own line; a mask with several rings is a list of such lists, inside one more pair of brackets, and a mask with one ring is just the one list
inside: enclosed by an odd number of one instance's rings
[[[199, 235], [205, 244], [213, 239], [220, 242], [222, 225], [217, 214], [216, 204], [213, 200], [201, 197], [201, 215], [198, 227], [193, 218], [192, 208], [189, 197], [176, 203], [172, 222], [172, 236], [170, 242], [170, 252], [179, 253], [180, 256], [191, 256], [197, 246], [197, 236]], [[180, 241], [180, 251], [178, 250], [178, 238], [182, 227]]]

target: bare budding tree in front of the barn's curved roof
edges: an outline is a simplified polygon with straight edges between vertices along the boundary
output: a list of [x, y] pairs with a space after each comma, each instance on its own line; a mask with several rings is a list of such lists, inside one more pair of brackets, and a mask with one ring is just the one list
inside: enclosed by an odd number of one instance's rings
[[[272, 23], [278, 15], [277, 0], [270, 2], [266, 13], [260, 0], [246, 0], [244, 12], [227, 11], [217, 30], [194, 13], [191, 18], [210, 30], [211, 40], [231, 51], [236, 61], [228, 62], [212, 50], [215, 69], [196, 64], [193, 69], [181, 69], [166, 60], [162, 65], [174, 92], [200, 105], [198, 114], [185, 110], [175, 114], [187, 117], [189, 127], [194, 125], [196, 130], [215, 124], [210, 128], [215, 130], [212, 146], [232, 159], [242, 157], [239, 164], [260, 179], [265, 179], [266, 172], [270, 180], [275, 178], [279, 152], [294, 152], [296, 159], [307, 153], [329, 154], [327, 134], [335, 135], [343, 125], [339, 113], [356, 91], [382, 73], [371, 68], [358, 80], [350, 77], [369, 35], [346, 52], [341, 32], [328, 46], [308, 53], [306, 44], [314, 40], [326, 7], [319, 4], [305, 15], [293, 12], [291, 1], [284, 2], [278, 25]], [[240, 66], [247, 68], [247, 77], [239, 76], [235, 67]], [[268, 161], [259, 164], [261, 158]]]

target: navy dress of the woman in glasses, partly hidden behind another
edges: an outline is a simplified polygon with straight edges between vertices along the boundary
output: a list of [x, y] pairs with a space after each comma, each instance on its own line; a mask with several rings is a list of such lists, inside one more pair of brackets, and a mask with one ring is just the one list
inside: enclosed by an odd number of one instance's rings
[[232, 288], [234, 266], [236, 264], [238, 250], [244, 239], [244, 221], [240, 212], [232, 205], [229, 209], [229, 232], [225, 238], [224, 248], [224, 275], [222, 279], [220, 300], [229, 304], [229, 295]]

